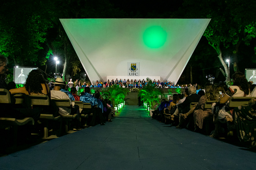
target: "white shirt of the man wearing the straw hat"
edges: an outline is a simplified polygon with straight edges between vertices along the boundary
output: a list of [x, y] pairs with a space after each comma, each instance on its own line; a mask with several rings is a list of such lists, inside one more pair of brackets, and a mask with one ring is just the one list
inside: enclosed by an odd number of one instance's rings
[[[69, 99], [68, 95], [61, 90], [51, 90], [51, 99]], [[59, 107], [59, 114], [70, 114], [71, 113], [71, 107]]]

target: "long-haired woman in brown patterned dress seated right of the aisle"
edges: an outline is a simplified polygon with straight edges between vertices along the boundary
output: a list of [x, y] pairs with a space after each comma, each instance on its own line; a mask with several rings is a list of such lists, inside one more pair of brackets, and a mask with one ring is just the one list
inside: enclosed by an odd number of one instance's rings
[[219, 94], [215, 93], [215, 88], [213, 84], [206, 83], [204, 85], [205, 95], [202, 95], [199, 102], [193, 107], [188, 113], [182, 114], [186, 118], [191, 113], [194, 113], [194, 124], [195, 128], [203, 128], [203, 122], [206, 118], [213, 119], [212, 109], [205, 109], [204, 104], [207, 100], [219, 101]]

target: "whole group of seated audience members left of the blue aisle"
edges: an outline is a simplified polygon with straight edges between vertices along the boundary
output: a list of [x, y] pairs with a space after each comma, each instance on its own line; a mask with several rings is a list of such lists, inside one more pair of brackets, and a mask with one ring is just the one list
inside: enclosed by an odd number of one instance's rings
[[[81, 113], [93, 113], [91, 121], [89, 122], [89, 126], [95, 126], [97, 123], [96, 119], [99, 119], [99, 123], [101, 125], [105, 125], [105, 121], [111, 122], [111, 109], [105, 103], [105, 101], [101, 100], [99, 93], [93, 97], [90, 93], [90, 87], [85, 88], [85, 93], [80, 97], [80, 101], [84, 103], [91, 103], [93, 106], [92, 109], [83, 109], [82, 112], [79, 112], [79, 107], [73, 104], [74, 99], [70, 99], [68, 94], [64, 93], [62, 88], [65, 86], [63, 79], [57, 78], [54, 82], [55, 86], [53, 90], [50, 90], [49, 86], [45, 83], [45, 79], [42, 76], [42, 73], [39, 70], [32, 70], [28, 75], [25, 86], [20, 88], [11, 88], [12, 85], [8, 85], [5, 83], [4, 77], [7, 68], [7, 58], [0, 56], [0, 88], [1, 89], [9, 89], [11, 104], [3, 104], [0, 103], [1, 112], [0, 117], [7, 118], [16, 118], [23, 119], [25, 117], [32, 117], [34, 122], [36, 123], [40, 114], [42, 113], [50, 113], [55, 116], [59, 116], [60, 114], [77, 114], [77, 119], [74, 119], [75, 128], [80, 128], [80, 119], [79, 115]], [[15, 105], [14, 94], [25, 94], [24, 98], [24, 106]], [[70, 101], [70, 107], [57, 107], [54, 104], [50, 104], [49, 107], [31, 107], [29, 101], [26, 101], [27, 95], [47, 95], [49, 99], [67, 99]], [[72, 95], [74, 98], [74, 96]], [[75, 96], [76, 97], [76, 96]], [[94, 107], [96, 106], [96, 107]]]

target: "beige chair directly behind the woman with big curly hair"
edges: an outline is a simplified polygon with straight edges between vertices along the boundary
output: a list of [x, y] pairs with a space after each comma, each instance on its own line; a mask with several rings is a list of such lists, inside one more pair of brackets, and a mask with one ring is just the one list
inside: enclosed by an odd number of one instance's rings
[[[47, 95], [28, 95], [28, 96], [30, 98], [31, 107], [33, 107], [33, 106], [50, 106], [50, 99]], [[40, 114], [40, 120], [43, 121], [43, 125], [44, 125], [43, 139], [48, 138], [50, 121], [59, 121], [60, 122], [59, 133], [57, 135], [61, 136], [62, 117], [60, 115], [54, 117], [54, 115], [52, 113]]]

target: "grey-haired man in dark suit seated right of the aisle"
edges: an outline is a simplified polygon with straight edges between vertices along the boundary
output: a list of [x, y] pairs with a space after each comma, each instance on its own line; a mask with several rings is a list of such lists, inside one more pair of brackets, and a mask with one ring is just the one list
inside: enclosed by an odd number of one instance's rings
[[[178, 105], [179, 113], [188, 113], [190, 111], [190, 104], [192, 102], [198, 102], [200, 99], [200, 95], [196, 94], [195, 86], [189, 86], [189, 96], [186, 97], [183, 103]], [[183, 117], [181, 117], [182, 119]], [[193, 123], [193, 114], [190, 114], [187, 116], [185, 121], [177, 126], [177, 128], [184, 128], [188, 124], [188, 128], [193, 130], [194, 129], [194, 123]]]

